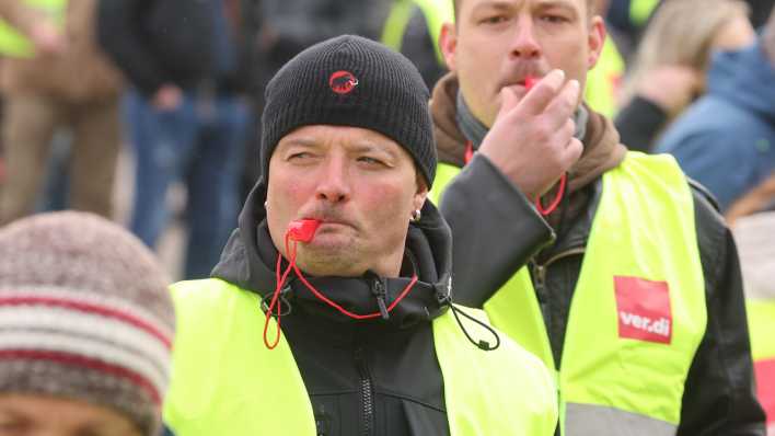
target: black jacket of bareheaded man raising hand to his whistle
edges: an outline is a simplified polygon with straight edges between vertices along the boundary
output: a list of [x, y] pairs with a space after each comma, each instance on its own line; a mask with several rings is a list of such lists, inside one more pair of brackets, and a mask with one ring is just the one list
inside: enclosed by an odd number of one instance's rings
[[[534, 284], [539, 275], [543, 278], [535, 288], [559, 365], [602, 184], [598, 180], [586, 190], [586, 211], [556, 241], [524, 195], [478, 154], [448, 185], [440, 206], [454, 238], [456, 289], [478, 289], [453, 296], [456, 302], [482, 307], [519, 267], [530, 264]], [[693, 193], [708, 317], [686, 380], [678, 435], [763, 436], [734, 241], [709, 195], [694, 184]]]

